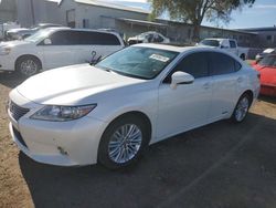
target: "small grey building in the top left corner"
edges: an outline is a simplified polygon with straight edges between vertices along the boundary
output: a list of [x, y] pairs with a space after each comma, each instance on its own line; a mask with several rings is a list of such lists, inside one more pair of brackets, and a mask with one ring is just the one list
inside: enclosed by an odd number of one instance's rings
[[1, 0], [0, 1], [0, 23], [17, 20], [17, 3], [15, 0]]

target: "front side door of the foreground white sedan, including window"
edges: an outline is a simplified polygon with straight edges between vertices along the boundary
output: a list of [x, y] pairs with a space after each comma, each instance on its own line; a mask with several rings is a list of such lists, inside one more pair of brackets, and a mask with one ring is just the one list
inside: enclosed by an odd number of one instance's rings
[[[171, 89], [170, 76], [176, 71], [183, 71], [193, 75], [194, 82], [179, 84], [177, 89]], [[158, 141], [206, 123], [212, 97], [212, 84], [204, 52], [187, 55], [172, 70], [159, 87]]]

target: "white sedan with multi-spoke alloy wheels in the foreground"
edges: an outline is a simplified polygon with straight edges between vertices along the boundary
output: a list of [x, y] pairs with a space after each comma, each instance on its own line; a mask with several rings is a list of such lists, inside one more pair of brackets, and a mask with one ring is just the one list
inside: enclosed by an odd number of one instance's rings
[[95, 66], [61, 67], [11, 91], [10, 132], [36, 162], [109, 168], [149, 144], [220, 119], [242, 122], [259, 74], [208, 48], [137, 44]]

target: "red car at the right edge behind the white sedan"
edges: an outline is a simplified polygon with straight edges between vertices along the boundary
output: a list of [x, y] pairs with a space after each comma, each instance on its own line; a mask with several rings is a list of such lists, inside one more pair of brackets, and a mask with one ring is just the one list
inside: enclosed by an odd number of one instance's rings
[[276, 54], [268, 54], [253, 67], [261, 73], [261, 94], [276, 96]]

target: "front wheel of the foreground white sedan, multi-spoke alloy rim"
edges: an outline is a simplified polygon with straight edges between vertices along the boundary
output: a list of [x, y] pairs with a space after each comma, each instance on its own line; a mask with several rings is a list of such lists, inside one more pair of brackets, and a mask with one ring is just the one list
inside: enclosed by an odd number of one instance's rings
[[144, 119], [121, 116], [105, 129], [99, 143], [98, 162], [109, 169], [132, 165], [148, 146], [149, 139], [149, 128]]

